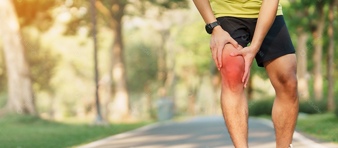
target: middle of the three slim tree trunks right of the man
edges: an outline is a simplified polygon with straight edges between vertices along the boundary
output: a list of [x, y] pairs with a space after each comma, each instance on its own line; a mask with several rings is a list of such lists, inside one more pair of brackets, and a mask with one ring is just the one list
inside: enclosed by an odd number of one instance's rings
[[323, 54], [323, 29], [325, 25], [325, 14], [322, 5], [318, 5], [320, 20], [318, 22], [316, 30], [313, 32], [314, 39], [314, 97], [317, 101], [323, 99], [323, 76], [322, 76], [322, 54]]

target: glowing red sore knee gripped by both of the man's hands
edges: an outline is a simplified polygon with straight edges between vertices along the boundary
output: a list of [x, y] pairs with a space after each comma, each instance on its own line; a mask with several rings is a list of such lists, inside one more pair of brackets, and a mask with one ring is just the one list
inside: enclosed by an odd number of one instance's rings
[[[231, 45], [233, 47], [233, 45]], [[222, 54], [222, 68], [221, 68], [221, 77], [222, 77], [222, 86], [226, 87], [228, 90], [237, 91], [238, 89], [243, 89], [242, 77], [244, 73], [244, 59], [242, 56], [232, 57], [230, 53], [234, 49], [223, 49]]]

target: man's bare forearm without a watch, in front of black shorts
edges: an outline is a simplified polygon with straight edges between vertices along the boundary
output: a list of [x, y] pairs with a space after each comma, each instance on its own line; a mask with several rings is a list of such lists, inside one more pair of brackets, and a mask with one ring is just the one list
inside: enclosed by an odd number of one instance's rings
[[[279, 0], [263, 0], [251, 45], [259, 50], [277, 14]], [[251, 46], [250, 45], [250, 46]]]

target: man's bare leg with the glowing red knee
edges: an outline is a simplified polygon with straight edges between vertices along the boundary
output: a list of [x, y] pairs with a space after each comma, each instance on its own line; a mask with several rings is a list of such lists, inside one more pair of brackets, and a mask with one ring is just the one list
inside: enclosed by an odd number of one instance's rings
[[[243, 48], [240, 46], [240, 48]], [[232, 57], [236, 49], [232, 44], [225, 44], [222, 53], [222, 91], [221, 108], [226, 126], [236, 148], [248, 147], [248, 103], [244, 94], [244, 73], [242, 56]]]

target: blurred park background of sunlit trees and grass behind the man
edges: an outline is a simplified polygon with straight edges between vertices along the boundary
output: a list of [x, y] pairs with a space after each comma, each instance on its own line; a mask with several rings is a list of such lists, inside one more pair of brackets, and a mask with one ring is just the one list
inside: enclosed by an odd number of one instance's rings
[[[221, 115], [211, 36], [192, 1], [0, 2], [0, 147], [74, 147], [164, 120], [168, 106], [173, 118]], [[338, 1], [280, 3], [297, 55], [297, 128], [338, 142], [327, 136], [338, 127]], [[274, 89], [256, 62], [245, 91], [251, 116], [271, 114]]]

